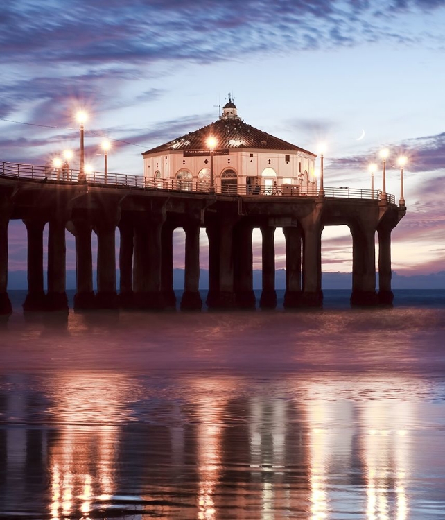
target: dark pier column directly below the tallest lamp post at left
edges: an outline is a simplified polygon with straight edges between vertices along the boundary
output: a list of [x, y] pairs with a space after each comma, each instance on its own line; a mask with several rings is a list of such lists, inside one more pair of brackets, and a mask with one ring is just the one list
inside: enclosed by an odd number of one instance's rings
[[91, 253], [91, 224], [86, 220], [73, 221], [76, 233], [76, 294], [74, 309], [94, 309], [93, 256]]

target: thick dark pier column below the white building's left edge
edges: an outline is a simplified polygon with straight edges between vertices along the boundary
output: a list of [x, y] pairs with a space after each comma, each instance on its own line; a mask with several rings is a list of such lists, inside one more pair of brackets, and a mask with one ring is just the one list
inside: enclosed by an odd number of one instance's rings
[[134, 229], [134, 299], [141, 309], [163, 309], [161, 231], [163, 220], [152, 216]]

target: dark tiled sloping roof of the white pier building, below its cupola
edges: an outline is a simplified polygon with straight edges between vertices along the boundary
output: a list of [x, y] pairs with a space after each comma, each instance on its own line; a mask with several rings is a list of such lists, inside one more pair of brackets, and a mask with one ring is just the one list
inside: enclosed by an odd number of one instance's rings
[[247, 125], [238, 116], [221, 116], [214, 123], [147, 150], [142, 155], [152, 155], [153, 153], [173, 150], [207, 150], [209, 146], [206, 141], [209, 136], [216, 137], [216, 148], [259, 148], [263, 150], [300, 151], [316, 157], [314, 153], [308, 150], [299, 148], [295, 144], [290, 144], [287, 141], [283, 141], [283, 139]]

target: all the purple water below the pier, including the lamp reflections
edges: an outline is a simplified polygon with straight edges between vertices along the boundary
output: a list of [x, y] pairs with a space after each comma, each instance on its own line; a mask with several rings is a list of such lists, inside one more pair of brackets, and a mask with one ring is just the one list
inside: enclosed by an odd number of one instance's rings
[[11, 291], [0, 518], [444, 519], [445, 291], [394, 293], [24, 315]]

